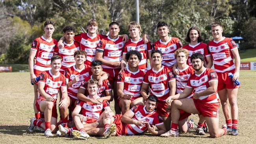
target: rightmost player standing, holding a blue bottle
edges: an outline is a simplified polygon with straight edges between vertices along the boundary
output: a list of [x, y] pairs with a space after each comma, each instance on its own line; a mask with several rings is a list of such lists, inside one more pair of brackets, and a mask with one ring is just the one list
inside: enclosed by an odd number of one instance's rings
[[[237, 92], [240, 85], [234, 84], [233, 81], [239, 78], [240, 56], [236, 42], [231, 38], [223, 37], [222, 32], [223, 28], [221, 23], [213, 22], [211, 24], [213, 40], [208, 43], [208, 49], [218, 75], [218, 94], [228, 132], [232, 132], [232, 135], [238, 135]], [[235, 58], [235, 63], [233, 62], [233, 58]], [[229, 78], [228, 73], [234, 74], [232, 79]], [[228, 105], [229, 103], [231, 111]]]

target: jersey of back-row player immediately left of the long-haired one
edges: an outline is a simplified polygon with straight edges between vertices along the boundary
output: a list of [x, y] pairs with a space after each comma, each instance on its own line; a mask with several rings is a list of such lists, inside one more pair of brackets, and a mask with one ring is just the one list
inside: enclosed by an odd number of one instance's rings
[[174, 52], [182, 47], [181, 41], [176, 37], [169, 37], [169, 41], [162, 42], [161, 39], [154, 43], [154, 50], [160, 50], [163, 54], [162, 65], [173, 67], [176, 63]]

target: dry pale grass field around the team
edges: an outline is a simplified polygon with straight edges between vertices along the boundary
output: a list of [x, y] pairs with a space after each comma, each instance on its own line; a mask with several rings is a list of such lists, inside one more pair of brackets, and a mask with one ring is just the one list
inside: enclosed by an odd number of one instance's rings
[[[256, 127], [256, 71], [241, 71], [240, 81], [242, 88], [238, 92], [239, 107], [239, 135], [230, 134], [221, 138], [210, 138], [196, 135], [192, 130], [181, 134], [178, 138], [154, 137], [148, 133], [139, 136], [91, 137], [89, 140], [74, 140], [72, 137], [46, 138], [43, 133], [29, 133], [27, 127], [30, 117], [33, 117], [33, 90], [29, 81], [28, 72], [0, 73], [0, 140], [2, 144], [20, 143], [255, 143]], [[113, 106], [113, 105], [112, 105]], [[113, 108], [112, 108], [113, 109]], [[191, 116], [197, 122], [196, 115]], [[220, 108], [220, 126], [224, 124], [224, 116]]]

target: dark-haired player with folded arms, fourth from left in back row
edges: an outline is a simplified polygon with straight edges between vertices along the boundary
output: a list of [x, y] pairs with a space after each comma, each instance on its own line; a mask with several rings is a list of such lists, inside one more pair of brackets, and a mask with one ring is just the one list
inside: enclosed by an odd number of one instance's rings
[[109, 36], [102, 39], [97, 46], [96, 60], [102, 61], [102, 68], [110, 76], [108, 78], [111, 87], [113, 87], [113, 96], [115, 100], [115, 112], [120, 113], [117, 101], [117, 76], [121, 70], [122, 50], [124, 41], [118, 36], [120, 29], [117, 22], [109, 24]]

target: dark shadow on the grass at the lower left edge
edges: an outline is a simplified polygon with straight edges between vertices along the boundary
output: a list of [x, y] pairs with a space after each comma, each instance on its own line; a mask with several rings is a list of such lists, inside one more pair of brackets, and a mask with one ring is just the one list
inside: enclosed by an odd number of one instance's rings
[[7, 135], [23, 135], [27, 133], [28, 126], [0, 126], [0, 133]]

